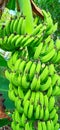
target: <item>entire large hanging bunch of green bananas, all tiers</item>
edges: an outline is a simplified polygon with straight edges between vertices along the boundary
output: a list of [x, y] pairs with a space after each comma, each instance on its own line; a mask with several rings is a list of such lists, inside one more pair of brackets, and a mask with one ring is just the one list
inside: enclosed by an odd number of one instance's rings
[[[25, 16], [14, 16], [1, 23], [0, 48], [11, 51], [5, 75], [9, 98], [15, 104], [13, 130], [58, 130], [55, 96], [60, 95], [60, 39], [50, 13], [43, 10], [44, 21], [25, 32]], [[35, 22], [35, 21], [34, 21]]]

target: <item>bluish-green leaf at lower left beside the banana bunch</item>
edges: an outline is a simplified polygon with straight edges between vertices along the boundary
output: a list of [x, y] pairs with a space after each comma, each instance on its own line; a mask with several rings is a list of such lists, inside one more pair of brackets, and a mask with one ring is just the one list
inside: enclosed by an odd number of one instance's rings
[[8, 97], [8, 90], [9, 90], [9, 82], [6, 78], [0, 75], [0, 93], [3, 94], [3, 98], [5, 99], [4, 105], [7, 110], [13, 111], [14, 103]]

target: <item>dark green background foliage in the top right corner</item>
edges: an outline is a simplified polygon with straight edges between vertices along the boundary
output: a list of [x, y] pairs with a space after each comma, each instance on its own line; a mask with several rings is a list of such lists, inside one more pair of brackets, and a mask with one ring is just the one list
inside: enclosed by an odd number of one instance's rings
[[58, 22], [57, 36], [60, 37], [60, 0], [34, 0], [41, 8], [49, 11], [54, 23]]

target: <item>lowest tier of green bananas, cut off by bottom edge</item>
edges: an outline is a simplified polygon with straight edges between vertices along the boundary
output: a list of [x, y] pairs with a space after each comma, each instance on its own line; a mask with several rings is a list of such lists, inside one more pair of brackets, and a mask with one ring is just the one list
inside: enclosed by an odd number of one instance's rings
[[[17, 118], [18, 117], [18, 118]], [[26, 116], [24, 114], [19, 115], [18, 111], [15, 110], [14, 114], [12, 115], [13, 118], [13, 122], [12, 122], [12, 129], [15, 130], [24, 130], [24, 128], [27, 130], [35, 130], [34, 126], [36, 125], [36, 129], [37, 130], [58, 130], [59, 128], [59, 124], [58, 123], [54, 123], [52, 120], [48, 120], [46, 122], [44, 121], [34, 121], [34, 119], [32, 120], [28, 120], [26, 118]]]

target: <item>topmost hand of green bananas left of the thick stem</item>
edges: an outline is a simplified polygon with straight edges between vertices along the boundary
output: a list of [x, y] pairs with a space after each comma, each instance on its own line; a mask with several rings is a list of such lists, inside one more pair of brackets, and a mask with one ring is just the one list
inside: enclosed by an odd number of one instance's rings
[[4, 25], [2, 23], [2, 29], [1, 29], [1, 37], [10, 35], [12, 33], [16, 34], [25, 34], [25, 17], [13, 17], [7, 20], [7, 22], [4, 22]]

